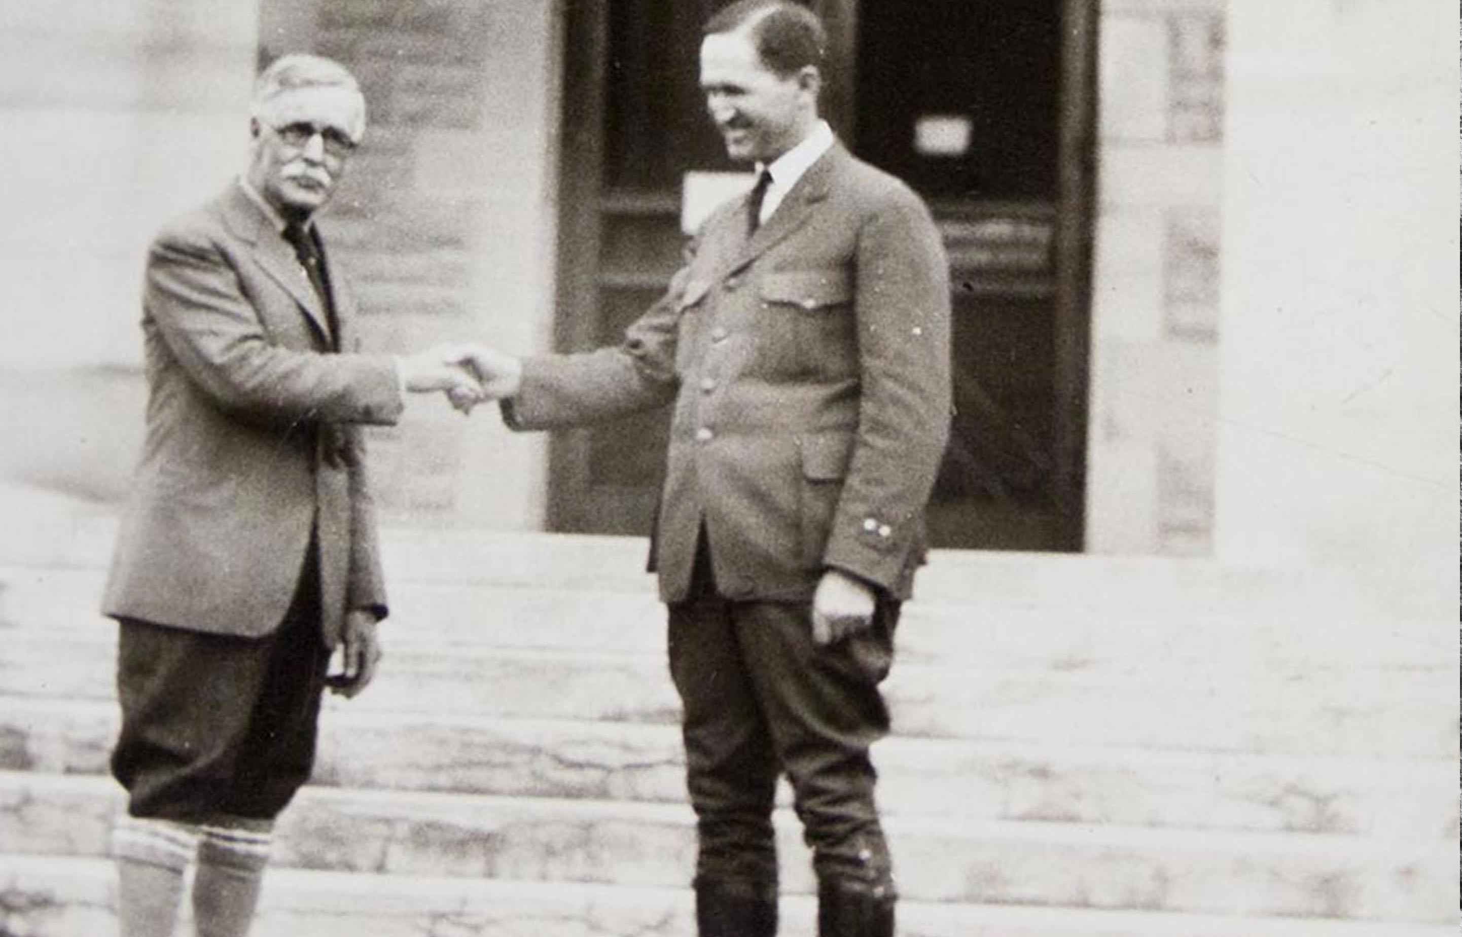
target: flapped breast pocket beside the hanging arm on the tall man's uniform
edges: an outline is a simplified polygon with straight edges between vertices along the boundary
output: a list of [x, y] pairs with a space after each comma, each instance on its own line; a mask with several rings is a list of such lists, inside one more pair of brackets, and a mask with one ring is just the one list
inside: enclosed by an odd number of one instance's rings
[[762, 278], [773, 352], [800, 376], [838, 380], [857, 373], [857, 326], [848, 270], [776, 270]]

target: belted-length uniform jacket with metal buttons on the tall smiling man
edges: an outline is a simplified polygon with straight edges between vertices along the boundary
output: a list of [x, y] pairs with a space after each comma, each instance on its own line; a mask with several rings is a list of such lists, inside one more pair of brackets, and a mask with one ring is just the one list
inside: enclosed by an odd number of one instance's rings
[[949, 434], [939, 232], [838, 143], [746, 231], [746, 199], [722, 206], [621, 345], [526, 360], [504, 415], [556, 428], [674, 401], [651, 545], [668, 602], [702, 529], [731, 598], [807, 599], [827, 567], [906, 598]]

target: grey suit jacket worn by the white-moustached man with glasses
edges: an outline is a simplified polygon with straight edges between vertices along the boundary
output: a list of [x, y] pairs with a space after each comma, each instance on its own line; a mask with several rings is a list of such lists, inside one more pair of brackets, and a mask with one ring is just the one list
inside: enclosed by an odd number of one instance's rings
[[[336, 346], [355, 306], [330, 269]], [[326, 354], [308, 278], [263, 209], [230, 186], [168, 225], [142, 303], [146, 441], [104, 611], [219, 634], [279, 626], [319, 532], [322, 629], [385, 615], [361, 430], [404, 409], [385, 355]]]

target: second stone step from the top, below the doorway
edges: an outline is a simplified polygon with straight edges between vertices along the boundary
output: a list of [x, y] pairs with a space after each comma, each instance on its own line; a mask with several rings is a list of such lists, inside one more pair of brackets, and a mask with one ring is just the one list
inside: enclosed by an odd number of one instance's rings
[[[111, 630], [99, 614], [99, 569], [0, 567], [0, 629], [45, 633]], [[393, 643], [662, 653], [665, 611], [654, 586], [528, 582], [395, 582], [386, 636]], [[1092, 610], [1085, 602], [917, 599], [899, 626], [901, 662], [1130, 672], [1161, 664], [1187, 672], [1367, 671], [1387, 681], [1425, 680], [1449, 659], [1447, 618], [1363, 610], [1325, 614], [1193, 605]]]

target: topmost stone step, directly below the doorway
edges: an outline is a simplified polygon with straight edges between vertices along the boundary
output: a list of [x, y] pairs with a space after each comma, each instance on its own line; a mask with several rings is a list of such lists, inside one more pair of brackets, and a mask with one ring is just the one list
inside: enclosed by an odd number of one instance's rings
[[[3, 494], [3, 493], [0, 493]], [[0, 542], [0, 564], [107, 569], [117, 519], [108, 509], [0, 498], [26, 531]], [[580, 534], [386, 528], [387, 580], [643, 589], [646, 539]], [[918, 598], [1000, 608], [1083, 608], [1398, 617], [1447, 615], [1452, 596], [1364, 569], [1272, 569], [1205, 558], [936, 550]]]

